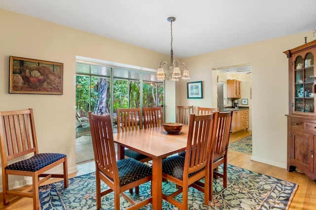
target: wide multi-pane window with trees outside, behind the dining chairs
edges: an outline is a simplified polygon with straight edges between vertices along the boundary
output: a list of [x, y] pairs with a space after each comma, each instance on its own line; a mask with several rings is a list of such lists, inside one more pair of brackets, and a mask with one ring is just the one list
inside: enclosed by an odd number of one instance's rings
[[164, 84], [156, 73], [81, 62], [76, 73], [76, 110], [111, 115], [114, 127], [117, 108], [163, 105]]

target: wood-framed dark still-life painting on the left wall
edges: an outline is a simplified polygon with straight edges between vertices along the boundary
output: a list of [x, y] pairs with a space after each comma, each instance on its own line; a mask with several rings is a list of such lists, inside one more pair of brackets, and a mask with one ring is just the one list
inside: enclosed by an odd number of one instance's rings
[[9, 93], [63, 94], [59, 62], [10, 56]]

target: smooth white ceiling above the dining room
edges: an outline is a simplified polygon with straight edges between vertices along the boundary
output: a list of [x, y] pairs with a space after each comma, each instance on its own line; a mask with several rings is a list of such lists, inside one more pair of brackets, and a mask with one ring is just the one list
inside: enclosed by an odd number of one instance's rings
[[0, 0], [0, 8], [167, 55], [174, 16], [177, 58], [316, 29], [316, 0]]

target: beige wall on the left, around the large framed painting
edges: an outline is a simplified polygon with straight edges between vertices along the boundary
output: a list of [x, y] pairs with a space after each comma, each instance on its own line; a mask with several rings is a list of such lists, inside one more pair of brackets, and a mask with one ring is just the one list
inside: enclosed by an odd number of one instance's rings
[[[1, 9], [0, 29], [0, 110], [33, 108], [40, 152], [67, 154], [69, 173], [77, 170], [76, 56], [151, 69], [156, 69], [160, 60], [169, 59], [167, 55]], [[9, 56], [64, 63], [64, 94], [9, 94]], [[174, 94], [170, 97], [174, 100]], [[21, 183], [10, 180], [11, 187]]]

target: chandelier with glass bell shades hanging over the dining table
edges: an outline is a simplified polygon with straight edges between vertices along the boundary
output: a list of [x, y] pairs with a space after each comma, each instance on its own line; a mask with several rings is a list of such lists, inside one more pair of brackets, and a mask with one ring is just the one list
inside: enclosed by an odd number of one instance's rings
[[172, 22], [176, 20], [175, 17], [168, 17], [167, 21], [170, 22], [171, 24], [171, 50], [170, 50], [170, 65], [168, 64], [167, 61], [162, 60], [160, 62], [160, 66], [158, 67], [157, 71], [157, 79], [158, 80], [164, 80], [167, 79], [174, 81], [179, 81], [179, 78], [181, 77], [181, 70], [183, 70], [183, 75], [182, 79], [190, 79], [190, 74], [189, 70], [187, 68], [187, 65], [184, 62], [177, 62], [177, 60], [173, 60], [173, 49], [172, 49]]

